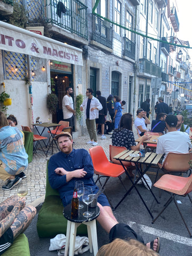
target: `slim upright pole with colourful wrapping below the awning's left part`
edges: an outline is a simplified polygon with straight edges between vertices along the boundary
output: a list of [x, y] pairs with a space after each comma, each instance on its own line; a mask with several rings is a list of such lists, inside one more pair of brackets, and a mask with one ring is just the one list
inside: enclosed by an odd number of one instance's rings
[[34, 110], [33, 110], [33, 93], [31, 84], [31, 65], [30, 65], [30, 55], [27, 55], [27, 85], [28, 85], [28, 106], [29, 106], [29, 123], [30, 125], [34, 123]]

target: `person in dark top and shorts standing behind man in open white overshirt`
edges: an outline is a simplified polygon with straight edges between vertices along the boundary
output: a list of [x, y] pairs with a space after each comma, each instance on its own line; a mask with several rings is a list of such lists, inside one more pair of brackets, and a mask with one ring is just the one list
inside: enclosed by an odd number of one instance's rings
[[98, 130], [98, 124], [101, 124], [101, 139], [107, 139], [104, 131], [105, 131], [105, 118], [107, 116], [107, 101], [105, 97], [101, 96], [101, 92], [97, 91], [97, 99], [100, 101], [102, 105], [102, 109], [99, 110], [99, 118], [96, 119], [96, 128]]

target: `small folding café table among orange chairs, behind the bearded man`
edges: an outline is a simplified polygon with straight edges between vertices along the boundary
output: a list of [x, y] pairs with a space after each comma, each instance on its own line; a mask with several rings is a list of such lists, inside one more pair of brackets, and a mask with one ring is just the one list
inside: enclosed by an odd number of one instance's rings
[[[56, 130], [56, 132], [57, 132], [58, 129], [59, 129], [59, 126], [61, 124], [55, 124], [55, 123], [41, 123], [41, 124], [39, 124], [39, 123], [36, 123], [36, 124], [32, 124], [32, 125], [36, 128], [38, 134], [41, 135], [41, 136], [42, 136], [43, 132], [45, 131], [45, 129], [47, 129], [50, 132], [51, 136], [49, 137], [49, 141], [46, 144], [45, 144], [44, 141], [43, 142], [44, 142], [45, 147], [46, 148], [48, 147], [45, 155], [47, 156], [47, 153], [49, 152], [49, 149], [51, 147], [52, 147], [52, 154], [53, 154], [53, 141], [54, 141], [57, 148], [58, 148], [58, 145], [57, 145], [57, 141], [55, 141], [55, 139], [54, 139], [54, 134], [51, 133], [51, 128], [57, 127], [57, 130]], [[40, 132], [38, 127], [43, 127], [43, 130]], [[55, 132], [55, 134], [56, 134], [56, 132]], [[51, 140], [51, 142], [50, 142], [50, 140]], [[58, 148], [58, 150], [59, 150], [59, 148]]]

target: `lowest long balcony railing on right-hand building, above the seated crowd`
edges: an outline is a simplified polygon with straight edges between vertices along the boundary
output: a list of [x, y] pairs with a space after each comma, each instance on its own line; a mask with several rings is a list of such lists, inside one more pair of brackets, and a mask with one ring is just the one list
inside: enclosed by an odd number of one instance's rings
[[139, 72], [161, 77], [161, 68], [147, 59], [139, 59]]

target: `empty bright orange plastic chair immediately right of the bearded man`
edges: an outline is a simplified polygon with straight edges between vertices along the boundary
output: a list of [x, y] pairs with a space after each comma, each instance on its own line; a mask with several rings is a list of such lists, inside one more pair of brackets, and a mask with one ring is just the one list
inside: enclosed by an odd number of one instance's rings
[[[125, 170], [123, 169], [123, 166], [110, 163], [101, 146], [96, 146], [96, 147], [90, 148], [89, 151], [90, 151], [91, 159], [93, 162], [94, 173], [98, 175], [98, 178], [95, 183], [97, 183], [99, 181], [100, 185], [102, 187], [105, 187], [106, 183], [110, 177], [114, 177], [114, 178], [118, 177], [119, 180], [121, 181], [123, 187], [125, 188], [125, 186], [121, 180], [121, 175], [125, 172]], [[106, 178], [106, 180], [102, 185], [100, 179], [103, 177]], [[126, 188], [125, 188], [125, 190], [126, 190]], [[108, 201], [109, 201], [109, 198], [108, 198]], [[110, 203], [110, 201], [109, 201], [109, 203]], [[111, 203], [110, 203], [110, 205], [111, 205]], [[111, 205], [111, 207], [113, 208], [112, 205]]]

